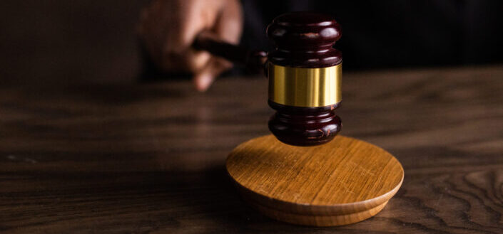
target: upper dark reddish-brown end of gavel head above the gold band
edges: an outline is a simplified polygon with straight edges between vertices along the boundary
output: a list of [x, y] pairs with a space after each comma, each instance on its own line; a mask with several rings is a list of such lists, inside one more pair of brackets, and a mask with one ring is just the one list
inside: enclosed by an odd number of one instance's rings
[[333, 47], [342, 36], [342, 29], [333, 16], [286, 13], [274, 18], [267, 35], [275, 47], [269, 52], [268, 60], [275, 65], [326, 68], [342, 63], [342, 53]]

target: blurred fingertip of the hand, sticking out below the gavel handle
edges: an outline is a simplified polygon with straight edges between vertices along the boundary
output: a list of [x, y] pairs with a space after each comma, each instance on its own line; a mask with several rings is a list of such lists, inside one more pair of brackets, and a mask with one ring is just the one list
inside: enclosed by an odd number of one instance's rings
[[223, 73], [225, 70], [230, 68], [232, 68], [232, 63], [227, 60], [215, 57], [210, 58], [204, 68], [194, 75], [193, 83], [195, 89], [200, 92], [208, 90], [208, 87], [210, 87], [213, 83], [213, 80], [215, 80], [220, 73]]

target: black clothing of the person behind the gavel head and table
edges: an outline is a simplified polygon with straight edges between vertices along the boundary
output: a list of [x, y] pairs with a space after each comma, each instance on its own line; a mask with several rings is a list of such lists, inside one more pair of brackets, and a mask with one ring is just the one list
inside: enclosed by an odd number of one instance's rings
[[503, 61], [503, 1], [243, 1], [241, 43], [270, 49], [265, 28], [288, 11], [330, 14], [342, 25], [345, 69]]

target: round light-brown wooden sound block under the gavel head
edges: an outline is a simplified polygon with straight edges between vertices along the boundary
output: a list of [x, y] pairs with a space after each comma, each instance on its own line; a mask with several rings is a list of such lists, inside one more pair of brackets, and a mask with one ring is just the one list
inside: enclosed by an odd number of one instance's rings
[[375, 216], [402, 185], [390, 153], [350, 137], [293, 147], [273, 135], [240, 144], [227, 171], [243, 200], [265, 216], [300, 225], [346, 225]]

